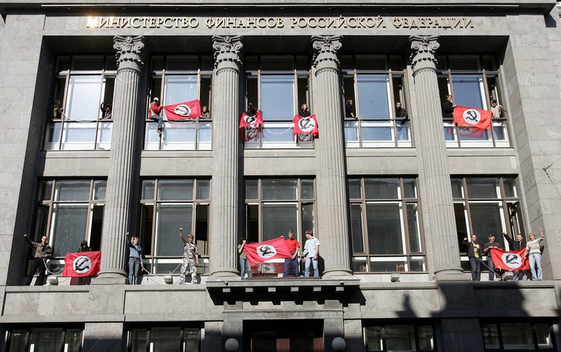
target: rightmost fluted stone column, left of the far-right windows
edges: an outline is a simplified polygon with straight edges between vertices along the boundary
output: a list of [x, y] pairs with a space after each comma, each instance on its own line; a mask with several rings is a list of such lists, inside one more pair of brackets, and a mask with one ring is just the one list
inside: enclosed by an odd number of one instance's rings
[[436, 49], [438, 36], [411, 36], [411, 67], [419, 115], [419, 140], [424, 189], [423, 204], [429, 209], [430, 243], [434, 254], [436, 280], [463, 280], [460, 267], [456, 218], [454, 217], [450, 173], [446, 160], [446, 142], [443, 135], [441, 102], [436, 78]]

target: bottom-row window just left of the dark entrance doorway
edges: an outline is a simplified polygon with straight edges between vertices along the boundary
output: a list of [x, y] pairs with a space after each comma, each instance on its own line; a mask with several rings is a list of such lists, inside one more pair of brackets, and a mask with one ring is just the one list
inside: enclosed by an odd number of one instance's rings
[[127, 351], [199, 351], [200, 334], [200, 328], [184, 326], [132, 328], [128, 335]]

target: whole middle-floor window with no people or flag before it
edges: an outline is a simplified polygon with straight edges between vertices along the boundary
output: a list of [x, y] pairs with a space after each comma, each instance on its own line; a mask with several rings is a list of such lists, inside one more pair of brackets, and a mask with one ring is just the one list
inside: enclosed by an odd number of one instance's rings
[[426, 271], [415, 178], [349, 180], [352, 270]]

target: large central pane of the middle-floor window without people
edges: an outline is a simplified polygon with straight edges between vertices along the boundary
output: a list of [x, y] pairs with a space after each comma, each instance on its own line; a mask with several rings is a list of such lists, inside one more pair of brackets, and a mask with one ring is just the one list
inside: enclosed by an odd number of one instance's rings
[[371, 254], [403, 254], [399, 204], [367, 204], [367, 229]]

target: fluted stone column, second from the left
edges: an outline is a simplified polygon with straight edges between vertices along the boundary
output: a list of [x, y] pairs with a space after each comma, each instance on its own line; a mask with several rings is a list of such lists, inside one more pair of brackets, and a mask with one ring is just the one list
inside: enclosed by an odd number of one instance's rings
[[211, 276], [238, 276], [241, 36], [213, 36]]

